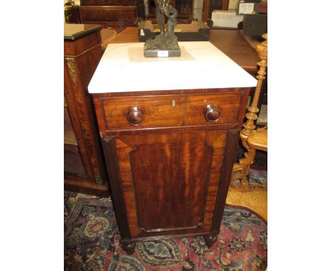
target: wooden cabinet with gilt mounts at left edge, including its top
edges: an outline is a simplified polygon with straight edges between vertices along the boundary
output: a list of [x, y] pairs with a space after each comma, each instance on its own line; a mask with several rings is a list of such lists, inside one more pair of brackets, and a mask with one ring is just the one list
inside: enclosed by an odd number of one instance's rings
[[65, 189], [109, 195], [87, 86], [101, 59], [101, 26], [65, 24]]

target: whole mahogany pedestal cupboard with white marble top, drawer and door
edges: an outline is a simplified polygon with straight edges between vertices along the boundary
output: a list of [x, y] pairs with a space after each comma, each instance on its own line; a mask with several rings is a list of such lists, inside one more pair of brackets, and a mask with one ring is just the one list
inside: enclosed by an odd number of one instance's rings
[[88, 87], [129, 254], [138, 241], [216, 241], [257, 82], [209, 42], [179, 47], [181, 57], [145, 59], [143, 43], [110, 44]]

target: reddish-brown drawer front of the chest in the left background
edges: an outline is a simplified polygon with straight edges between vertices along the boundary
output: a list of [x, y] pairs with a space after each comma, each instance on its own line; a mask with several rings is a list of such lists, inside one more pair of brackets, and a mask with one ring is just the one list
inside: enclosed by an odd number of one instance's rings
[[123, 18], [129, 21], [136, 19], [135, 6], [113, 6], [107, 8], [80, 7], [82, 21], [118, 21]]

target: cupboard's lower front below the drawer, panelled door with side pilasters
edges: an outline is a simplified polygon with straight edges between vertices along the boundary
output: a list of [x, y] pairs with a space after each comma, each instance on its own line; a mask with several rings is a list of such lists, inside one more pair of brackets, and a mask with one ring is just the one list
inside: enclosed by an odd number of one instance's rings
[[211, 233], [227, 137], [173, 131], [103, 138], [121, 236]]

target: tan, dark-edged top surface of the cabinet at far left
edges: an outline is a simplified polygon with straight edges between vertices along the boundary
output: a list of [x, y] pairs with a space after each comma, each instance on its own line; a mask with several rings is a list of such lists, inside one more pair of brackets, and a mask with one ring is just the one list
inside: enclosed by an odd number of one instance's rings
[[65, 23], [63, 37], [65, 40], [78, 40], [89, 33], [101, 30], [101, 28], [102, 26], [97, 24]]

